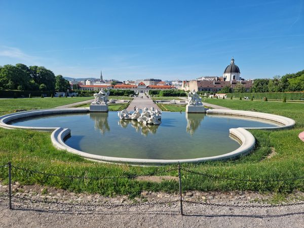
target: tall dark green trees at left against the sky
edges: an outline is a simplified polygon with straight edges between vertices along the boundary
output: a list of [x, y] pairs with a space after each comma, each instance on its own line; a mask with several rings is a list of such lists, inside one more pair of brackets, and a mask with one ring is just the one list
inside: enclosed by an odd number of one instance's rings
[[0, 66], [0, 90], [59, 91], [70, 90], [70, 84], [44, 66], [26, 66], [22, 63]]

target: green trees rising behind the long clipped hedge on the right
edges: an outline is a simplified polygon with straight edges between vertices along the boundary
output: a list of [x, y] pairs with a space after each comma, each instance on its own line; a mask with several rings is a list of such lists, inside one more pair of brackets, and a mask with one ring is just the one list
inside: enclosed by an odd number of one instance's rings
[[[238, 86], [238, 85], [237, 85]], [[269, 92], [300, 92], [304, 91], [304, 70], [296, 73], [287, 73], [273, 79], [255, 79], [250, 89], [251, 93], [269, 93]], [[246, 90], [241, 86], [224, 87], [218, 93], [245, 93]]]

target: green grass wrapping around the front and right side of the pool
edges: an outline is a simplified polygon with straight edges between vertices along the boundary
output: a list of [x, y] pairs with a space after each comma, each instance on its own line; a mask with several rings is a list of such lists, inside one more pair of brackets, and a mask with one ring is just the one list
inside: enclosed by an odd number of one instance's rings
[[[13, 99], [11, 100], [14, 101]], [[45, 101], [47, 100], [45, 99]], [[304, 176], [304, 143], [297, 137], [301, 131], [304, 131], [303, 104], [230, 99], [207, 99], [206, 102], [234, 109], [256, 110], [283, 115], [294, 119], [296, 126], [290, 130], [279, 131], [251, 130], [257, 141], [256, 148], [250, 155], [243, 156], [237, 160], [182, 164], [184, 169], [215, 176], [215, 178], [211, 178], [182, 170], [183, 191], [253, 190], [285, 194], [304, 190], [303, 179], [275, 181], [277, 179]], [[58, 103], [56, 103], [56, 106], [58, 106]], [[23, 108], [21, 104], [19, 108]], [[9, 110], [6, 110], [6, 112]], [[272, 151], [275, 151], [275, 155], [268, 158]], [[102, 180], [69, 179], [33, 174], [13, 168], [13, 180], [15, 181], [27, 184], [50, 185], [74, 192], [99, 193], [106, 196], [126, 194], [132, 198], [138, 196], [141, 191], [178, 191], [178, 183], [173, 180], [155, 183], [137, 181], [132, 178], [133, 175], [176, 176], [177, 171], [164, 171], [167, 168], [176, 168], [176, 165], [168, 167], [137, 167], [90, 162], [79, 156], [55, 149], [48, 132], [0, 129], [0, 161], [1, 163], [12, 161], [13, 165], [16, 166], [64, 175], [129, 177]], [[7, 172], [7, 168], [0, 168], [0, 179], [5, 182], [7, 182]], [[158, 172], [158, 174], [154, 174], [155, 172]], [[257, 181], [237, 181], [219, 177]]]

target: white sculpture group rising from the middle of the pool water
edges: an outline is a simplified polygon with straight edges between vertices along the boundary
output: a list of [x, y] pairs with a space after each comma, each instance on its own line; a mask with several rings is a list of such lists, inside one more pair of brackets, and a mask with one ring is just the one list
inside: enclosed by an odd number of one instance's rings
[[145, 125], [159, 125], [161, 123], [160, 120], [162, 119], [162, 112], [154, 109], [154, 107], [151, 107], [150, 110], [145, 107], [141, 113], [139, 112], [138, 108], [136, 108], [133, 113], [128, 112], [127, 109], [124, 109], [118, 112], [118, 116], [121, 120], [137, 120], [138, 123], [143, 123]]

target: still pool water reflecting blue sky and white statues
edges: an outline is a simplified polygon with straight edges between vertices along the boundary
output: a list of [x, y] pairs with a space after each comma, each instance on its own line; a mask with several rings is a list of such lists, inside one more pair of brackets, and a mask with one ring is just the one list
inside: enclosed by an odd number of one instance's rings
[[19, 119], [12, 125], [71, 129], [66, 144], [94, 155], [136, 159], [195, 159], [223, 155], [240, 144], [230, 128], [276, 123], [203, 113], [163, 112], [160, 125], [120, 120], [117, 112], [90, 112]]

